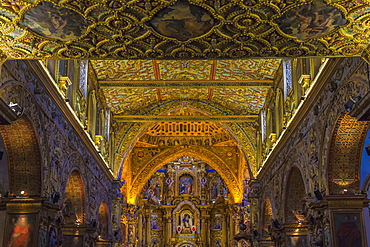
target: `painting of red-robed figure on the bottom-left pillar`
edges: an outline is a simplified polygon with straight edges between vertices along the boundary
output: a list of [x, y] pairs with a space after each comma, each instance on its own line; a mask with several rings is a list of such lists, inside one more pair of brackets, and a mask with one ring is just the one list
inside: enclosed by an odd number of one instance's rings
[[7, 235], [4, 238], [7, 247], [37, 246], [37, 215], [10, 214], [7, 220]]

